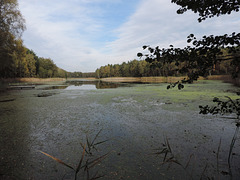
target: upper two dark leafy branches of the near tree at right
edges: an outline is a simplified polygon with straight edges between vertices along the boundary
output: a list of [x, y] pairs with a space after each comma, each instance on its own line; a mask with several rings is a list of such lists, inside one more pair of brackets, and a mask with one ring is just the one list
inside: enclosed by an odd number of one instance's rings
[[[232, 11], [238, 12], [240, 5], [240, 1], [236, 0], [172, 0], [172, 2], [182, 6], [177, 11], [180, 14], [187, 10], [199, 13], [199, 22], [214, 16], [230, 14]], [[233, 77], [239, 76], [240, 33], [203, 36], [200, 40], [197, 40], [194, 34], [190, 34], [187, 38], [187, 42], [191, 44], [185, 48], [174, 48], [173, 45], [162, 49], [143, 46], [143, 49], [149, 50], [149, 54], [138, 53], [137, 55], [139, 57], [145, 56], [145, 60], [151, 64], [161, 63], [164, 66], [175, 62], [175, 65], [178, 66], [176, 71], [188, 75], [188, 79], [174, 83], [169, 87], [178, 85], [178, 88], [182, 89], [184, 87], [182, 83], [192, 83], [199, 76], [208, 76], [217, 63], [225, 60], [230, 60], [233, 67]], [[227, 56], [223, 55], [224, 51], [227, 51]]]

